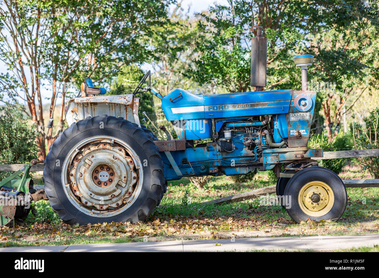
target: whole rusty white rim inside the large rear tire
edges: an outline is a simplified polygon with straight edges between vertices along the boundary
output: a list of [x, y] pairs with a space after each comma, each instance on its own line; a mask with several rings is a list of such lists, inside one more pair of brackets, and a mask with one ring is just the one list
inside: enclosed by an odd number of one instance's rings
[[132, 206], [142, 189], [143, 169], [136, 152], [112, 136], [76, 144], [62, 167], [63, 188], [77, 210], [114, 217]]

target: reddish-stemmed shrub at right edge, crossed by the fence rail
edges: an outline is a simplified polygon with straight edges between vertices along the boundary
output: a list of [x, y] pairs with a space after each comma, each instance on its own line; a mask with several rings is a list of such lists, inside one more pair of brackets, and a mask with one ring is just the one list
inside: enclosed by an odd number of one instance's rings
[[[378, 122], [379, 108], [371, 111], [362, 124], [353, 122], [354, 149], [379, 149]], [[357, 157], [357, 160], [363, 169], [368, 169], [375, 179], [379, 179], [379, 157]]]

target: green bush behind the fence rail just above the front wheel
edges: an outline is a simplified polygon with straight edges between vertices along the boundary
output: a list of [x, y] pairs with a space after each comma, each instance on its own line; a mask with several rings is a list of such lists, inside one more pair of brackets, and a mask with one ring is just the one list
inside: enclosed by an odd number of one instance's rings
[[[308, 146], [312, 149], [323, 149], [326, 152], [330, 151], [341, 151], [343, 149], [349, 148], [349, 140], [347, 136], [343, 134], [337, 135], [332, 142], [329, 142], [328, 137], [322, 134], [313, 135], [309, 138]], [[319, 160], [319, 166], [328, 168], [332, 170], [337, 175], [342, 171], [343, 166], [345, 165], [346, 158], [339, 159], [324, 159]]]

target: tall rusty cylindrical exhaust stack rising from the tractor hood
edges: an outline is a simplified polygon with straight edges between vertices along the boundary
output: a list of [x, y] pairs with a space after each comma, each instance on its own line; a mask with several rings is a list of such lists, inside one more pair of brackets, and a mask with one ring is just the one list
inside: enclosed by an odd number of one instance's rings
[[251, 38], [250, 85], [255, 87], [255, 91], [262, 91], [262, 87], [266, 86], [267, 38], [262, 37], [261, 26], [252, 26], [250, 31], [254, 32]]

